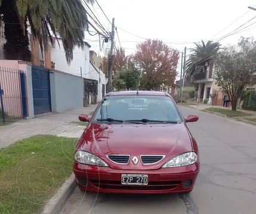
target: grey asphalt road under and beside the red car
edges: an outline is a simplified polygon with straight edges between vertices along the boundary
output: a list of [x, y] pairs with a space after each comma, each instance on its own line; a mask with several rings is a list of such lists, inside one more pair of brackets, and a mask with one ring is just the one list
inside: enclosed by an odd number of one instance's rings
[[180, 107], [199, 145], [201, 172], [192, 193], [120, 195], [82, 193], [70, 196], [61, 214], [254, 214], [256, 213], [256, 127]]

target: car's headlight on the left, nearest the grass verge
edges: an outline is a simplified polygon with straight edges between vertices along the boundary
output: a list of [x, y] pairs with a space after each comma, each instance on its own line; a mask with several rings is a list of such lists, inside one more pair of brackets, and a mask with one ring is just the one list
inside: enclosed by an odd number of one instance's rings
[[84, 152], [80, 150], [75, 153], [75, 160], [79, 163], [84, 163], [87, 165], [109, 166], [107, 165], [107, 163], [105, 163], [103, 160], [101, 160], [97, 156], [92, 155], [89, 152]]

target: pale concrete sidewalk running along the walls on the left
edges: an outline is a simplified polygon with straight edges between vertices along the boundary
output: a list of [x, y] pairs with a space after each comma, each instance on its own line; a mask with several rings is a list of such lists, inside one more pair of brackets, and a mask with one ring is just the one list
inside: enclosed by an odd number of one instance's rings
[[[97, 105], [72, 109], [61, 113], [53, 113], [33, 119], [24, 119], [14, 124], [0, 127], [0, 148], [6, 147], [17, 140], [25, 139], [36, 134], [60, 135], [68, 130], [78, 131], [76, 124], [79, 114], [91, 114]], [[80, 127], [81, 129], [82, 127]]]

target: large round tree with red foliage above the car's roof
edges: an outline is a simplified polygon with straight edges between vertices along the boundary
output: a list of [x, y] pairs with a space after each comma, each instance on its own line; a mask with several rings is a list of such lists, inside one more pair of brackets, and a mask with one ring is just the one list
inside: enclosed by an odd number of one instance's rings
[[140, 87], [159, 90], [172, 86], [177, 72], [179, 52], [161, 40], [147, 40], [137, 45], [133, 56], [135, 66], [141, 71]]

